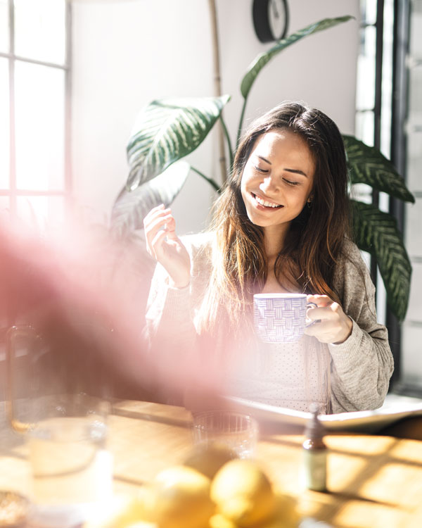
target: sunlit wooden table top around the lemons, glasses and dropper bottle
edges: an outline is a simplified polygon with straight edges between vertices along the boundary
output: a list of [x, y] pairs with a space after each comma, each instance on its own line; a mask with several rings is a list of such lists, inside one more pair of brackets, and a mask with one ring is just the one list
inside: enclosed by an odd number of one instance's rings
[[[181, 463], [192, 447], [191, 413], [181, 407], [121, 401], [115, 403], [109, 425], [116, 493], [136, 493], [160, 470]], [[421, 438], [417, 436], [421, 420], [407, 427], [408, 436]], [[4, 431], [0, 440], [0, 489], [26, 493], [25, 444]], [[279, 489], [298, 498], [304, 517], [338, 528], [422, 526], [421, 440], [363, 434], [326, 436], [326, 493], [303, 490], [300, 485], [302, 441], [302, 434], [280, 430], [262, 434], [256, 458]]]

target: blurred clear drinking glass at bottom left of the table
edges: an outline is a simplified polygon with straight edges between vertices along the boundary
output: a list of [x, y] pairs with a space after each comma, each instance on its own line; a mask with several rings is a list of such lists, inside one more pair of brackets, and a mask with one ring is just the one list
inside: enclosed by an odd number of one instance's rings
[[112, 496], [107, 403], [87, 394], [44, 396], [27, 432], [31, 526], [75, 527]]

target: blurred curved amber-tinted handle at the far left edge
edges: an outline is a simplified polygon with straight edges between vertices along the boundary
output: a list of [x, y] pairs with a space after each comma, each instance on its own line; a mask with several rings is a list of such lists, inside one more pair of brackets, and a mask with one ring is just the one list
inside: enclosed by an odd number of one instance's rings
[[34, 427], [30, 422], [21, 422], [15, 418], [15, 396], [13, 390], [13, 363], [15, 363], [15, 340], [19, 337], [28, 337], [39, 340], [40, 337], [31, 326], [13, 326], [6, 332], [6, 418], [11, 427], [18, 433], [25, 433]]

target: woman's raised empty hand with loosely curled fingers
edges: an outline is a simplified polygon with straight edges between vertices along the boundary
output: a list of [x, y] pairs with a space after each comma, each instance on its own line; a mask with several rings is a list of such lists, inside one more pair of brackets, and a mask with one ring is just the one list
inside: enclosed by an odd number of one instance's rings
[[161, 205], [143, 219], [146, 250], [165, 268], [170, 286], [184, 288], [191, 279], [191, 258], [175, 232], [172, 211]]

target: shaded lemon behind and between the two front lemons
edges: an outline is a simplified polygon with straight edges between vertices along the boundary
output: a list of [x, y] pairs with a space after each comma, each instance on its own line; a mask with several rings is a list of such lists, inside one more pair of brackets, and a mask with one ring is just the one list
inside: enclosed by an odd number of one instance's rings
[[184, 465], [193, 467], [194, 470], [213, 479], [220, 467], [234, 458], [237, 458], [237, 455], [229, 446], [216, 441], [207, 446], [204, 444], [195, 446], [184, 461]]

